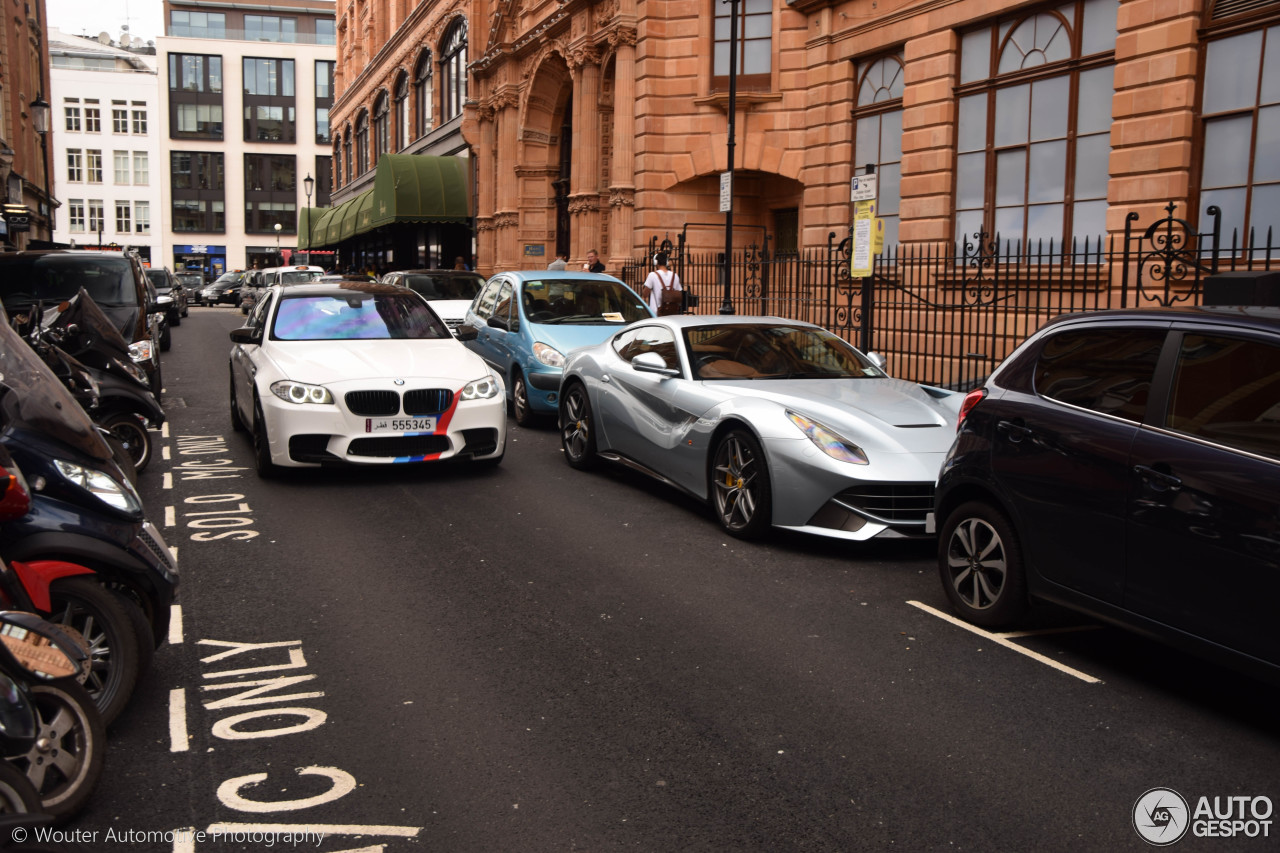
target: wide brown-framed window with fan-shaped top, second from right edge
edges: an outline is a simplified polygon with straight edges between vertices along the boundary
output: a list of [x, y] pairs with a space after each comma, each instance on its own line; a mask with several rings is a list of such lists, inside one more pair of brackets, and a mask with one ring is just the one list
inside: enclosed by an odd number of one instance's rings
[[1073, 0], [964, 33], [955, 237], [1029, 251], [1106, 233], [1119, 0]]

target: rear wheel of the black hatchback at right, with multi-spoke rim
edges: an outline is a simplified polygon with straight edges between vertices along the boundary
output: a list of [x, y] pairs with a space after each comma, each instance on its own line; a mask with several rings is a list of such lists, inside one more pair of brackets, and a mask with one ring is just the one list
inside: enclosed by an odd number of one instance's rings
[[1005, 514], [989, 503], [970, 501], [947, 516], [938, 537], [938, 573], [966, 621], [1000, 628], [1027, 612], [1021, 544]]

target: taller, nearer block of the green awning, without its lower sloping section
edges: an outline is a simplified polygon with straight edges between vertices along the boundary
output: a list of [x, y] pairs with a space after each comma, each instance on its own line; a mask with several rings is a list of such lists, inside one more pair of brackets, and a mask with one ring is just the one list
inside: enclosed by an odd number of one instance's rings
[[374, 174], [370, 228], [393, 222], [461, 222], [471, 218], [470, 161], [384, 154]]

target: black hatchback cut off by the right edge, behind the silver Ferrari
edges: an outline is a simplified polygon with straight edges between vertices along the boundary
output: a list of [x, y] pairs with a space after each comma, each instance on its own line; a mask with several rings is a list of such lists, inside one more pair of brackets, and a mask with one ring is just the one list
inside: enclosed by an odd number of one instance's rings
[[961, 616], [1042, 599], [1280, 678], [1280, 309], [1059, 318], [960, 416], [936, 517]]

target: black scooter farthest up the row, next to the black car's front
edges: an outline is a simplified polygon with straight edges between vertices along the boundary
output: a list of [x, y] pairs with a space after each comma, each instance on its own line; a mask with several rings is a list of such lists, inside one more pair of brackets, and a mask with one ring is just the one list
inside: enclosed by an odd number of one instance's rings
[[28, 329], [27, 342], [93, 423], [120, 442], [141, 474], [152, 456], [147, 429], [157, 429], [165, 415], [146, 373], [129, 359], [124, 338], [83, 288], [33, 314], [20, 323]]

